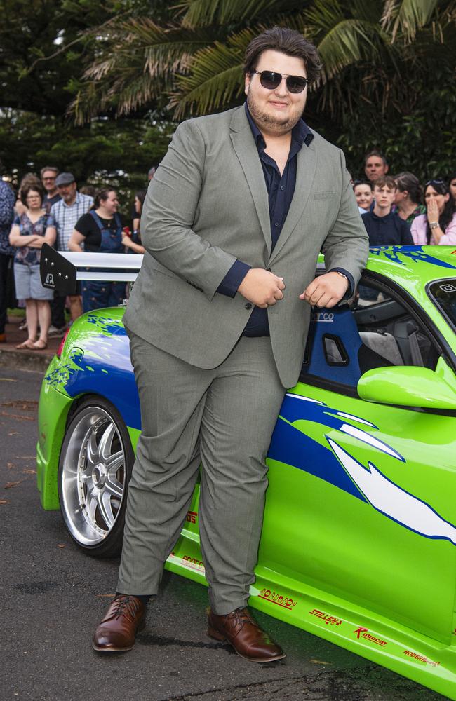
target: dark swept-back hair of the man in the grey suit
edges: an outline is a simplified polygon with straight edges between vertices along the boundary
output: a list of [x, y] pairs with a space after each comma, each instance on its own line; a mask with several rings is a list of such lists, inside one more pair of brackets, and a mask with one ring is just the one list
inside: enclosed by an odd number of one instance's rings
[[300, 32], [288, 27], [272, 27], [250, 41], [244, 55], [244, 74], [252, 73], [260, 55], [269, 49], [302, 58], [309, 85], [318, 80], [322, 65], [314, 44], [304, 39]]

